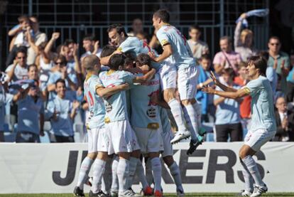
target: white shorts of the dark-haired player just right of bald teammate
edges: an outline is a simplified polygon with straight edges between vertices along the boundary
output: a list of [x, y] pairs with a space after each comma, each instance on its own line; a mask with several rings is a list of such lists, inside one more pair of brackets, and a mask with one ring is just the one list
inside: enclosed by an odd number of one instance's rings
[[128, 120], [105, 124], [109, 137], [108, 154], [139, 150], [138, 140]]

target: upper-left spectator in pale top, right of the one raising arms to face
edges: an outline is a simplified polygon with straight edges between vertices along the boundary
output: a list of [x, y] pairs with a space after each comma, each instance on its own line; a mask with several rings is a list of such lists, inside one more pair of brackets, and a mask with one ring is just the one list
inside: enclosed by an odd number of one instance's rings
[[28, 53], [27, 53], [28, 58], [26, 60], [26, 63], [28, 65], [35, 63], [36, 57], [38, 55], [38, 50], [33, 48], [33, 46], [38, 47], [40, 46], [41, 43], [48, 41], [46, 34], [40, 32], [38, 18], [36, 16], [31, 16], [30, 21], [31, 21], [31, 28], [33, 29], [33, 44], [29, 42], [30, 46], [28, 47]]

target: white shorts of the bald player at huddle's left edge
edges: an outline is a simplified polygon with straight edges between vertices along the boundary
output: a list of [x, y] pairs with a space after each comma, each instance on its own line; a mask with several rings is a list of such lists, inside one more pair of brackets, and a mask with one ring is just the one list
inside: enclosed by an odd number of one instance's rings
[[88, 153], [107, 152], [109, 149], [109, 139], [105, 128], [88, 129]]

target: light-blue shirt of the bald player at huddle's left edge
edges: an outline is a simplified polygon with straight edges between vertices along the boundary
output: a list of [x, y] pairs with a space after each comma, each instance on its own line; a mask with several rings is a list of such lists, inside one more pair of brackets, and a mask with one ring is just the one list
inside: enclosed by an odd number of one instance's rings
[[102, 97], [96, 93], [97, 87], [101, 86], [102, 82], [97, 75], [87, 76], [84, 82], [84, 95], [89, 106], [89, 117], [87, 119], [87, 127], [89, 129], [103, 127], [105, 107]]

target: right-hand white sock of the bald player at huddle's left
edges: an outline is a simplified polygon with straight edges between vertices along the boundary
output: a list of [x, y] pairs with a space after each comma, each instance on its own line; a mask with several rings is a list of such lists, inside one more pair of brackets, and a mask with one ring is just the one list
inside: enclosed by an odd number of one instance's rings
[[102, 159], [95, 159], [94, 161], [94, 167], [93, 167], [93, 182], [92, 182], [92, 187], [91, 187], [91, 191], [93, 193], [98, 193], [99, 190], [101, 189], [101, 179], [104, 173], [104, 169], [105, 169], [105, 164], [106, 161], [102, 160]]

